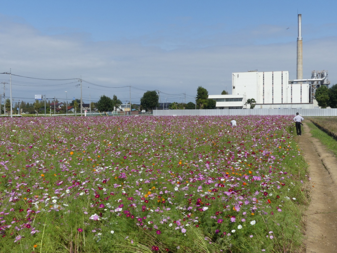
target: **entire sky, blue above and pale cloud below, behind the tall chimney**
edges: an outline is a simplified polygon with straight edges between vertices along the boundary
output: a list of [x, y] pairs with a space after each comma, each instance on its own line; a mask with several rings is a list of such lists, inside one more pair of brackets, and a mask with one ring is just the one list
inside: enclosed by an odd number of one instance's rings
[[[231, 72], [288, 70], [295, 77], [302, 13], [304, 76], [328, 69], [336, 83], [336, 7], [335, 1], [2, 2], [0, 71], [186, 92], [192, 101], [199, 85], [209, 94], [230, 90]], [[127, 91], [89, 86], [84, 93], [124, 99]], [[142, 92], [132, 92], [132, 102], [139, 101]], [[62, 99], [64, 91], [51, 93]]]

